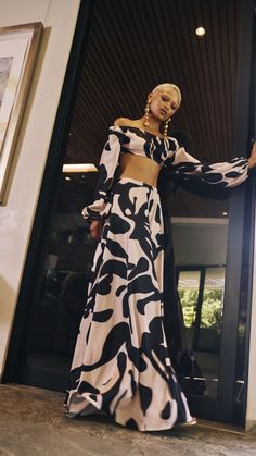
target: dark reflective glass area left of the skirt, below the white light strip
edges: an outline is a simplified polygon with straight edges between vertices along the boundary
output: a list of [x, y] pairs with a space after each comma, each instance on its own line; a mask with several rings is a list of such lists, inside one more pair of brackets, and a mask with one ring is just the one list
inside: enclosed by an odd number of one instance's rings
[[84, 201], [91, 197], [93, 180], [92, 174], [63, 178], [61, 198], [49, 230], [28, 365], [63, 372], [69, 369], [95, 247], [89, 225], [80, 214]]

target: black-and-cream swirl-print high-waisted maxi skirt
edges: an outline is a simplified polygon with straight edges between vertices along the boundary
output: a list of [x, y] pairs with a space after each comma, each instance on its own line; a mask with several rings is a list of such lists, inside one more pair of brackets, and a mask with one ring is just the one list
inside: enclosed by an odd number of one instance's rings
[[71, 370], [67, 415], [105, 411], [140, 431], [190, 421], [163, 326], [157, 189], [120, 178], [99, 243]]

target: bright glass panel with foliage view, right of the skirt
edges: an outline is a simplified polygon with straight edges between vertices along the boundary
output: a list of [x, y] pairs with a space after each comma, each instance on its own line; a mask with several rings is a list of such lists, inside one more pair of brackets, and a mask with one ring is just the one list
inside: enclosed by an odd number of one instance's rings
[[223, 267], [179, 270], [178, 292], [182, 305], [188, 347], [199, 366], [193, 380], [184, 377], [185, 391], [217, 397], [225, 294]]

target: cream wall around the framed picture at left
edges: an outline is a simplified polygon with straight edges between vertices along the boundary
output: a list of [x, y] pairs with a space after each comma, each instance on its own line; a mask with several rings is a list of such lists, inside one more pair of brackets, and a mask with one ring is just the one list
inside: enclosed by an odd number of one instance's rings
[[0, 206], [0, 378], [80, 0], [0, 0], [0, 27], [44, 32], [18, 136], [7, 206]]

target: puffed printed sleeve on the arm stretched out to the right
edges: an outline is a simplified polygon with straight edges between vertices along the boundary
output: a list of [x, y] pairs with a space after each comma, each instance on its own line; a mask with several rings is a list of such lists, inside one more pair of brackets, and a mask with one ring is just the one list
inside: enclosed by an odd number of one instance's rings
[[183, 181], [200, 178], [216, 188], [232, 188], [248, 177], [248, 161], [244, 157], [219, 163], [201, 163], [183, 147], [175, 153], [170, 169]]

